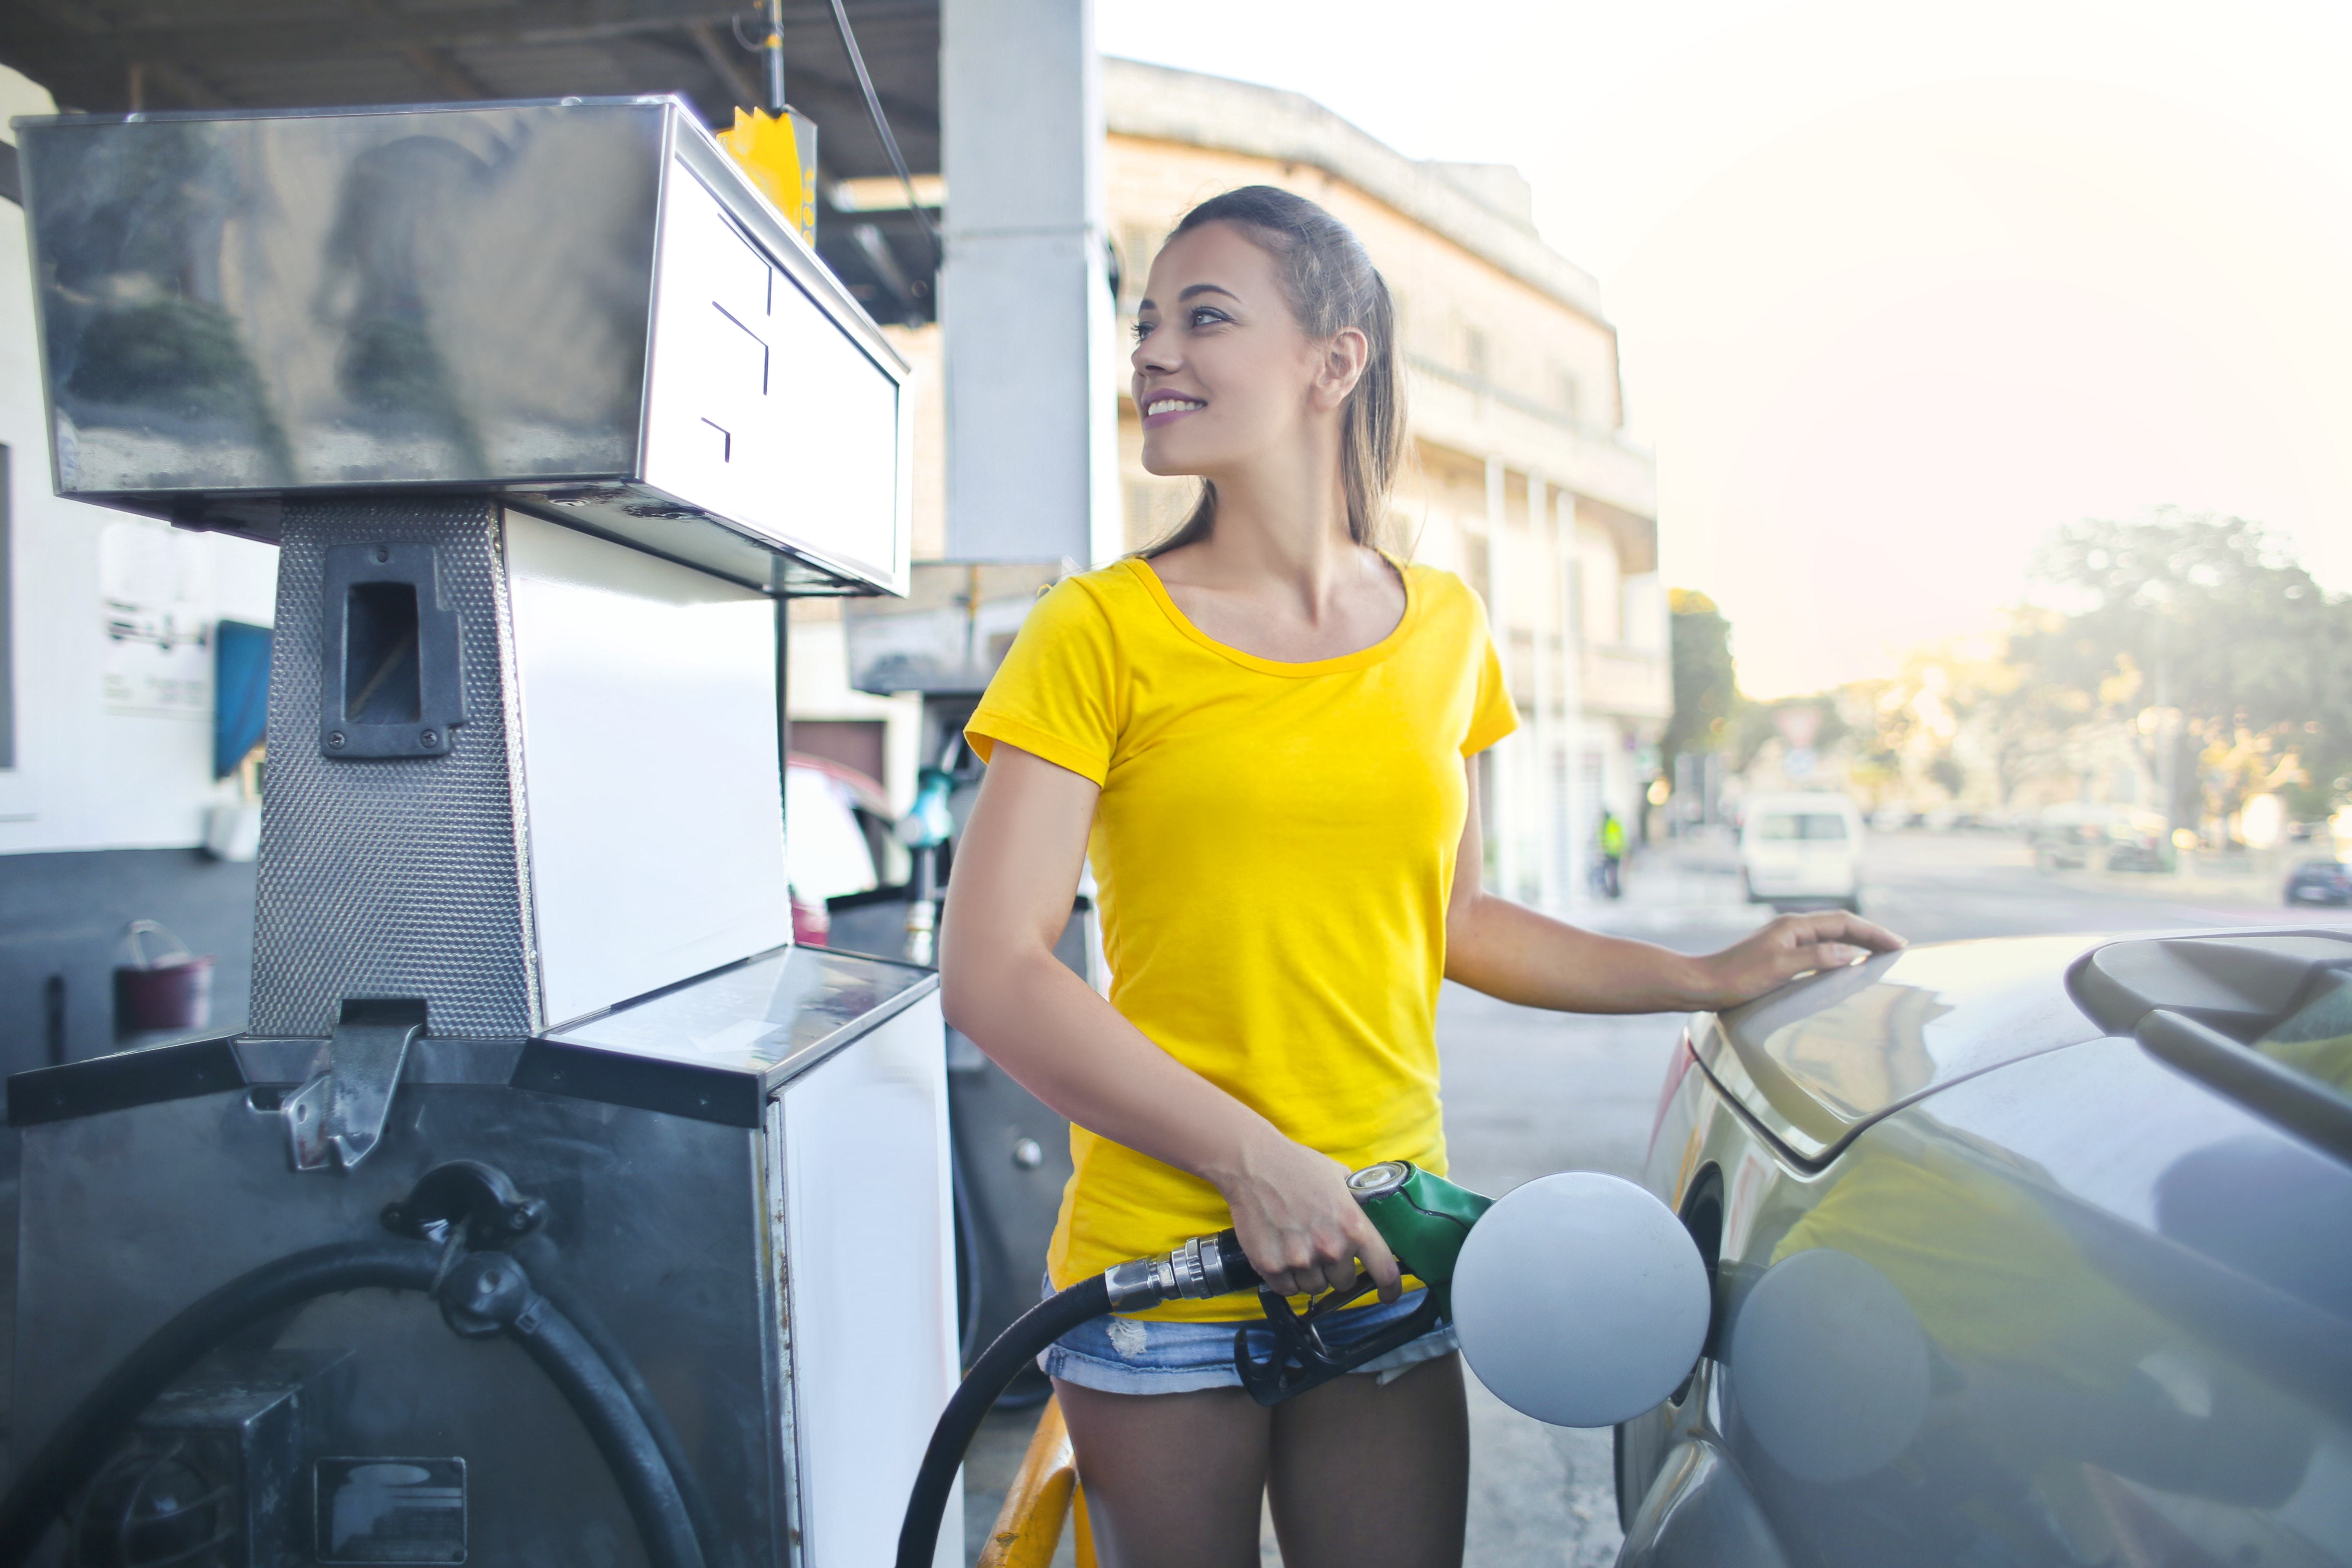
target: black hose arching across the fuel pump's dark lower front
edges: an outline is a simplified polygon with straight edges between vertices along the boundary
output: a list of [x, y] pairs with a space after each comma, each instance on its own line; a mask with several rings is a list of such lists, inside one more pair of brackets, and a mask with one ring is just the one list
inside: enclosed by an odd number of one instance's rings
[[703, 1568], [677, 1481], [612, 1368], [546, 1295], [532, 1291], [522, 1267], [501, 1253], [473, 1253], [442, 1269], [442, 1253], [423, 1241], [341, 1241], [263, 1262], [205, 1295], [99, 1380], [59, 1422], [40, 1453], [0, 1500], [0, 1568], [21, 1568], [40, 1547], [49, 1521], [111, 1453], [115, 1439], [174, 1378], [254, 1321], [301, 1307], [320, 1295], [365, 1288], [442, 1295], [499, 1324], [555, 1382], [588, 1427], [614, 1472], [630, 1519], [656, 1568]]

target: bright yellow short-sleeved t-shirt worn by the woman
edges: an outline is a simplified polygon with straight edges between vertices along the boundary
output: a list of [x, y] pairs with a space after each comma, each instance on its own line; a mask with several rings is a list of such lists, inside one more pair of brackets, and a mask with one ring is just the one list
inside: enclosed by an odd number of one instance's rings
[[[1404, 618], [1279, 663], [1204, 635], [1150, 564], [1044, 595], [964, 733], [1101, 785], [1089, 858], [1110, 1004], [1192, 1072], [1348, 1168], [1444, 1173], [1437, 983], [1468, 788], [1517, 724], [1486, 611], [1399, 567]], [[1084, 1128], [1054, 1286], [1232, 1225], [1209, 1182]], [[1249, 1316], [1237, 1300], [1141, 1316]]]

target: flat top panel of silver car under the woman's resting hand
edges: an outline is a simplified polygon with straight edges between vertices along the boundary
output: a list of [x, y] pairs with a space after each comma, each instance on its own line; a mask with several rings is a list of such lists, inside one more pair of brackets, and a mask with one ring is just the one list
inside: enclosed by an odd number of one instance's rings
[[1691, 1023], [1708, 1077], [1790, 1154], [1830, 1159], [1879, 1117], [2098, 1039], [2065, 971], [2112, 936], [2011, 936], [1879, 954]]

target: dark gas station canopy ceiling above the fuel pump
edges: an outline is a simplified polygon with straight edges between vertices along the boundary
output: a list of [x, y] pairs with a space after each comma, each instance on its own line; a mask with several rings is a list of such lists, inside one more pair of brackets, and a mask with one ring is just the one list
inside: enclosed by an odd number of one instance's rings
[[[915, 174], [938, 160], [938, 0], [844, 0]], [[757, 106], [762, 7], [710, 0], [12, 0], [0, 63], [61, 110], [320, 108], [677, 94], [727, 127]], [[882, 322], [929, 320], [934, 254], [887, 179], [833, 7], [783, 7], [786, 92], [816, 120], [816, 244]], [[929, 195], [924, 200], [931, 200]]]

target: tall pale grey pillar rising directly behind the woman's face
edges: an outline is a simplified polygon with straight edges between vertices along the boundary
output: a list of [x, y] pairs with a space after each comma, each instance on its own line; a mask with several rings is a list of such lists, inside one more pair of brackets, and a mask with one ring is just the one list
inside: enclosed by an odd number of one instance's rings
[[941, 0], [948, 555], [1120, 550], [1094, 0]]

